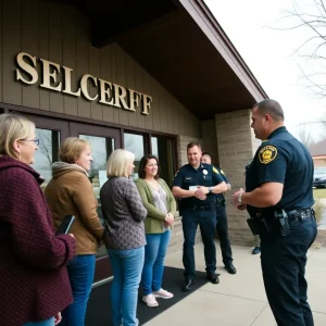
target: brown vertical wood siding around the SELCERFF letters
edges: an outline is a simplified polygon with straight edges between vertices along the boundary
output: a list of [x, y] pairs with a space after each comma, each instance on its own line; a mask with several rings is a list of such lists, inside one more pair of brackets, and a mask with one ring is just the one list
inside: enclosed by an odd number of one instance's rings
[[[195, 115], [118, 45], [102, 49], [90, 45], [89, 23], [74, 8], [36, 0], [0, 0], [1, 3], [0, 102], [116, 123], [126, 128], [200, 137], [201, 125]], [[72, 91], [77, 90], [80, 76], [91, 74], [149, 95], [153, 101], [149, 115], [141, 114], [141, 103], [136, 112], [129, 112], [98, 100], [88, 101], [83, 96], [40, 88], [40, 74], [36, 85], [15, 82], [15, 57], [21, 51], [37, 57], [39, 73], [40, 58], [72, 68]], [[63, 70], [59, 83], [62, 77]], [[96, 95], [92, 86], [88, 89], [90, 96]]]

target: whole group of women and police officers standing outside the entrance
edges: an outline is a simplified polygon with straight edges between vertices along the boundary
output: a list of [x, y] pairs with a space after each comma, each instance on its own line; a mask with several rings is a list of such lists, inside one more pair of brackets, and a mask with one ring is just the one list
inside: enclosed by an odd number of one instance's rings
[[[261, 260], [268, 302], [280, 326], [313, 326], [304, 278], [306, 251], [316, 237], [312, 195], [313, 163], [308, 150], [284, 126], [273, 100], [252, 109], [252, 128], [264, 140], [246, 172], [246, 190], [233, 195], [248, 210], [250, 227], [261, 238]], [[60, 147], [52, 179], [43, 181], [29, 165], [37, 150], [35, 125], [16, 114], [0, 116], [0, 319], [3, 326], [83, 326], [103, 242], [113, 268], [113, 325], [138, 325], [138, 287], [142, 301], [158, 306], [172, 299], [162, 288], [164, 258], [176, 216], [183, 216], [183, 289], [196, 276], [193, 246], [198, 225], [204, 244], [206, 277], [218, 284], [215, 230], [223, 262], [236, 274], [227, 235], [224, 172], [211, 165], [198, 142], [187, 146], [188, 164], [175, 175], [172, 190], [160, 178], [155, 156], [143, 156], [139, 179], [130, 178], [135, 155], [115, 150], [100, 190], [100, 221], [88, 178], [91, 149], [70, 137]], [[267, 140], [266, 140], [267, 139]], [[75, 221], [67, 235], [55, 235], [64, 216]], [[216, 218], [218, 216], [218, 218]]]

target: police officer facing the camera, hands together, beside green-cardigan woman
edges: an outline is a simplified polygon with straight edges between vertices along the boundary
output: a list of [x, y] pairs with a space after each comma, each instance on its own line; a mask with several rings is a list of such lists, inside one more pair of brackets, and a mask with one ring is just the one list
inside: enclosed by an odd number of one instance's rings
[[190, 142], [187, 146], [189, 164], [175, 175], [172, 192], [179, 199], [183, 216], [185, 266], [184, 291], [191, 289], [195, 277], [193, 246], [198, 224], [204, 244], [206, 275], [213, 284], [220, 283], [216, 271], [216, 250], [214, 234], [216, 226], [215, 195], [227, 190], [226, 184], [215, 167], [200, 162], [201, 146]]

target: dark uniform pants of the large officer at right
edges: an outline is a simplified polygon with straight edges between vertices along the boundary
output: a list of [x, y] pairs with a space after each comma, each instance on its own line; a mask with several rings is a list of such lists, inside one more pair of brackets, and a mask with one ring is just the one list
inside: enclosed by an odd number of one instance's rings
[[313, 326], [304, 278], [306, 251], [317, 227], [313, 217], [289, 221], [291, 234], [261, 234], [261, 263], [267, 299], [278, 326]]

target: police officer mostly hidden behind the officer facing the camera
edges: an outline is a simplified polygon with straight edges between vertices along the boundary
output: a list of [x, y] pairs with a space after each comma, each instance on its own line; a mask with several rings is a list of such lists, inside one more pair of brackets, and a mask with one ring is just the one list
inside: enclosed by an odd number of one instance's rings
[[[201, 162], [206, 163], [206, 164], [212, 164], [212, 158], [211, 158], [210, 153], [208, 153], [208, 152], [202, 153]], [[227, 179], [223, 170], [220, 168], [218, 166], [216, 166], [216, 170], [218, 171], [218, 173], [223, 177], [224, 181], [226, 183], [227, 190], [230, 190], [230, 188], [231, 188], [230, 183]], [[223, 263], [225, 265], [226, 271], [229, 274], [236, 274], [237, 269], [233, 263], [233, 261], [234, 261], [233, 260], [233, 251], [230, 248], [229, 236], [228, 236], [224, 193], [216, 195], [216, 220], [217, 220], [216, 230], [217, 230], [217, 235], [218, 235], [218, 239], [220, 239]]]

